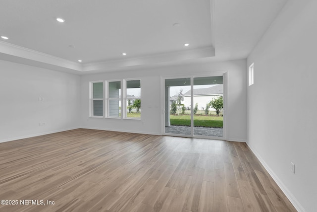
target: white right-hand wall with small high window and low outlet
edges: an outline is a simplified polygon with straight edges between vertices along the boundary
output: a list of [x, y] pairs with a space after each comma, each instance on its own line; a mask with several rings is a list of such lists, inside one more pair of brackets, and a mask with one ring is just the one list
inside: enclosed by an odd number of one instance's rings
[[303, 212], [317, 200], [316, 11], [316, 0], [289, 0], [248, 57], [248, 144]]

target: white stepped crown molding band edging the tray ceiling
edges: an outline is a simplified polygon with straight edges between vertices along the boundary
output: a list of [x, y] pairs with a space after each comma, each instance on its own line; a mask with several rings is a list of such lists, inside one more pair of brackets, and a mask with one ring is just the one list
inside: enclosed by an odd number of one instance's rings
[[89, 64], [79, 64], [32, 49], [0, 41], [0, 60], [75, 74], [135, 69], [140, 66], [159, 66], [159, 64], [163, 63], [179, 63], [183, 60], [208, 58], [214, 56], [215, 50], [213, 46], [208, 46], [184, 51], [147, 55], [144, 57], [142, 56]]

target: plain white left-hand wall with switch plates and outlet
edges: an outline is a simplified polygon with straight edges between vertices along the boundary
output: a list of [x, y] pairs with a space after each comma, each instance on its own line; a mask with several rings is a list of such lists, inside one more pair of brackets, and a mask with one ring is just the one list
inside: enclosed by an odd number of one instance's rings
[[80, 126], [78, 75], [0, 60], [0, 87], [0, 142]]

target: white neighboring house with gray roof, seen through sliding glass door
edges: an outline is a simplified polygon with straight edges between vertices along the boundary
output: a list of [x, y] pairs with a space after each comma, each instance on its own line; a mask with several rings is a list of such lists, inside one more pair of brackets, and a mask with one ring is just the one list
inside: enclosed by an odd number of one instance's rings
[[[190, 108], [191, 106], [191, 90], [184, 93], [184, 101], [182, 102], [185, 107]], [[223, 84], [213, 85], [208, 88], [197, 88], [194, 89], [194, 106], [198, 103], [198, 110], [201, 110], [202, 107], [206, 108], [207, 102], [211, 101], [213, 98], [217, 98], [219, 96], [223, 96]], [[211, 111], [215, 111], [215, 109], [210, 108]]]

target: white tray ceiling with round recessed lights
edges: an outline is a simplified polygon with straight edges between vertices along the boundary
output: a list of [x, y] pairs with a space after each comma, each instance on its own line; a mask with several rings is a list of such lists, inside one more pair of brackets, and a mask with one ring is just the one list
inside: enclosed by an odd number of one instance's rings
[[286, 1], [1, 0], [0, 59], [90, 73], [247, 58]]

